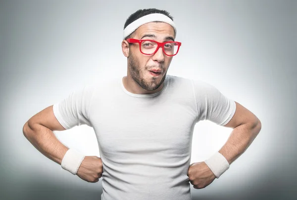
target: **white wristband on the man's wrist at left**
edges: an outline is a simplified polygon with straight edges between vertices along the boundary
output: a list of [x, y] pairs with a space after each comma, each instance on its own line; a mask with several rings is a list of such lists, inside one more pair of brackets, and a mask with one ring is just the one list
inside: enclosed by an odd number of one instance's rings
[[81, 155], [74, 149], [68, 149], [62, 159], [61, 167], [75, 175], [84, 159], [84, 155]]

